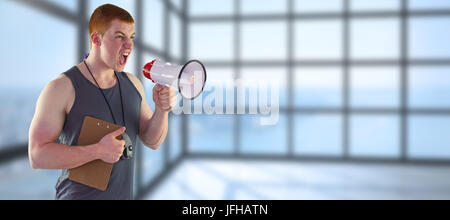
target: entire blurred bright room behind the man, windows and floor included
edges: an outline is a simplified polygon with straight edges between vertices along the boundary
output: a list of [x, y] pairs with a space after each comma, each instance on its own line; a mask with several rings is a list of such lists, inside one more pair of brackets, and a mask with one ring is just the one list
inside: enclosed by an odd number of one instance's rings
[[171, 114], [163, 146], [137, 149], [135, 198], [450, 199], [448, 0], [1, 0], [0, 199], [54, 198], [61, 171], [31, 169], [29, 125], [104, 3], [136, 21], [125, 71], [152, 109], [141, 68], [155, 58], [202, 60], [203, 100], [280, 82], [275, 125]]

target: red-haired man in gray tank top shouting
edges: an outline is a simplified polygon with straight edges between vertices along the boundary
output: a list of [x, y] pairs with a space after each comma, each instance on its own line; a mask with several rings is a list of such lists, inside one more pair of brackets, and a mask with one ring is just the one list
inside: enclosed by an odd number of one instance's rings
[[[122, 8], [98, 7], [89, 22], [88, 58], [51, 81], [42, 91], [29, 130], [29, 159], [34, 169], [62, 169], [56, 199], [131, 199], [133, 159], [122, 156], [127, 134], [158, 149], [168, 128], [168, 113], [176, 103], [175, 90], [153, 87], [153, 113], [144, 88], [134, 75], [123, 72], [133, 50], [134, 20]], [[122, 125], [98, 143], [77, 146], [85, 116]], [[135, 149], [135, 147], [134, 147]], [[74, 182], [69, 169], [101, 159], [114, 163], [106, 191]]]

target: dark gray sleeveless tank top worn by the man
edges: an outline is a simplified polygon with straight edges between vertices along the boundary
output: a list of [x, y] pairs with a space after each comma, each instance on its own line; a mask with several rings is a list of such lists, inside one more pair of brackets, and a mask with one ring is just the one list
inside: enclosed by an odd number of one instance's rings
[[[75, 88], [75, 101], [69, 114], [66, 115], [64, 127], [57, 142], [69, 146], [76, 146], [85, 116], [91, 116], [111, 123], [114, 123], [114, 120], [98, 87], [89, 81], [76, 66], [63, 74], [72, 81], [72, 85]], [[136, 149], [142, 97], [126, 73], [121, 72], [117, 76], [122, 89], [122, 101], [127, 128], [126, 133], [133, 142], [133, 149]], [[103, 89], [103, 92], [111, 105], [117, 124], [125, 126], [122, 118], [118, 83], [112, 88]], [[67, 169], [62, 170], [61, 176], [58, 178], [55, 186], [55, 198], [132, 199], [133, 170], [134, 159], [119, 160], [115, 163], [106, 191], [73, 182], [68, 178], [70, 171]]]

